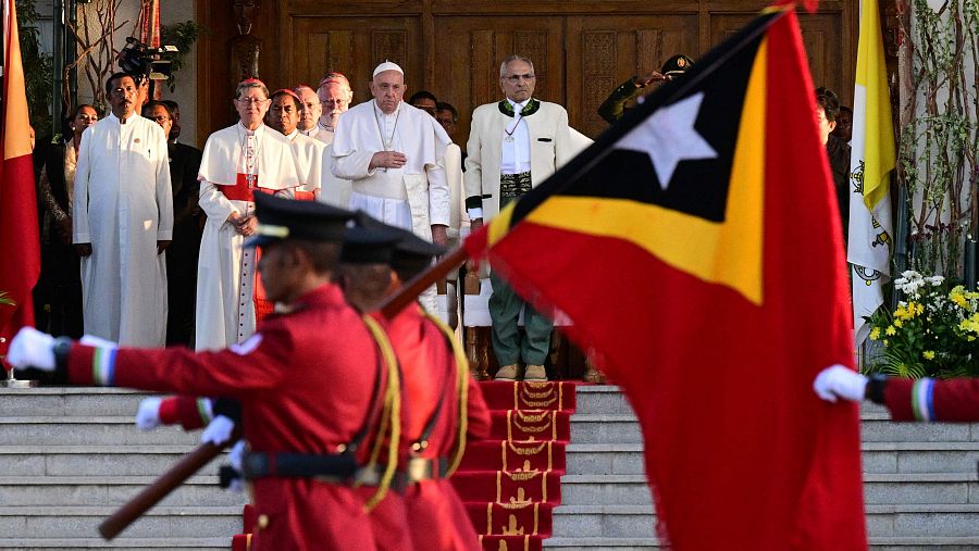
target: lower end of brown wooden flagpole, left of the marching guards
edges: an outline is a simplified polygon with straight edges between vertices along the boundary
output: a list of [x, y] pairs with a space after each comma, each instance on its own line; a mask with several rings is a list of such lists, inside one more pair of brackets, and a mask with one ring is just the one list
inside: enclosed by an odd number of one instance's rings
[[101, 534], [107, 541], [119, 536], [120, 533], [128, 528], [129, 525], [142, 516], [144, 513], [152, 509], [157, 503], [162, 501], [163, 498], [169, 496], [170, 492], [184, 484], [187, 478], [190, 478], [195, 473], [210, 463], [211, 460], [221, 453], [221, 450], [236, 441], [239, 436], [240, 434], [236, 430], [232, 438], [222, 446], [203, 443], [193, 452], [184, 455], [184, 458], [172, 466], [170, 471], [160, 475], [159, 478], [153, 480], [153, 484], [144, 488], [135, 498], [119, 508], [115, 513], [112, 513], [112, 516], [106, 518], [102, 524], [99, 525], [99, 534]]

